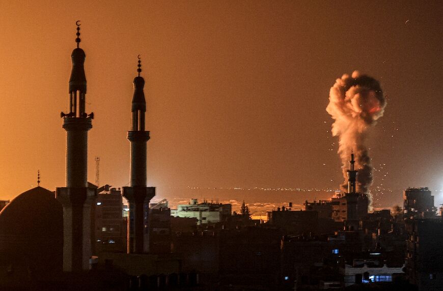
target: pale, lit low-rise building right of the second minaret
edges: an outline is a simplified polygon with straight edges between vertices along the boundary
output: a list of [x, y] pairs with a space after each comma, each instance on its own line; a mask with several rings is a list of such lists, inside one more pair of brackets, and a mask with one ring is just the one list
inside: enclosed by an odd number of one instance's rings
[[179, 204], [176, 210], [171, 210], [175, 217], [197, 218], [197, 224], [217, 223], [226, 221], [231, 216], [232, 204], [212, 203], [204, 201], [198, 203], [191, 199], [189, 204]]

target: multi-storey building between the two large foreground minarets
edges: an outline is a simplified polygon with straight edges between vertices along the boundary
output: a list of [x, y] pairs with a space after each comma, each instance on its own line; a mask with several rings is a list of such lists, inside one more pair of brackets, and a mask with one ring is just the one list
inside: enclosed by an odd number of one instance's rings
[[120, 188], [100, 187], [95, 206], [95, 245], [97, 253], [125, 251], [126, 228], [122, 216]]

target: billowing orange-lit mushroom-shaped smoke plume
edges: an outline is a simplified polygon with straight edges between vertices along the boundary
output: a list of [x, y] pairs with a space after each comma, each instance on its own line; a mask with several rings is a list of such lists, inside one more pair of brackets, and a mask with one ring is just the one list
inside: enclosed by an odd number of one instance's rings
[[340, 139], [338, 153], [343, 163], [343, 190], [347, 185], [346, 170], [349, 168], [351, 149], [355, 156], [355, 170], [358, 170], [357, 191], [367, 193], [371, 186], [371, 159], [365, 142], [369, 128], [383, 116], [385, 106], [386, 100], [378, 81], [360, 75], [358, 71], [354, 71], [352, 77], [343, 75], [330, 88], [326, 111], [335, 120], [332, 134]]

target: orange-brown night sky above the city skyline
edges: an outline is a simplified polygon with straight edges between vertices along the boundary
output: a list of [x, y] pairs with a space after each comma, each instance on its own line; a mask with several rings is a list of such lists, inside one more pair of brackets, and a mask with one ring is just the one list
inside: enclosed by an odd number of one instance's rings
[[400, 203], [409, 186], [442, 203], [441, 19], [441, 2], [421, 1], [2, 1], [0, 199], [36, 186], [37, 170], [41, 186], [66, 185], [60, 112], [80, 20], [91, 182], [99, 156], [100, 184], [129, 183], [141, 54], [157, 200], [191, 198], [188, 186], [339, 189], [326, 106], [335, 80], [358, 70], [380, 81], [387, 102], [367, 143], [374, 206]]

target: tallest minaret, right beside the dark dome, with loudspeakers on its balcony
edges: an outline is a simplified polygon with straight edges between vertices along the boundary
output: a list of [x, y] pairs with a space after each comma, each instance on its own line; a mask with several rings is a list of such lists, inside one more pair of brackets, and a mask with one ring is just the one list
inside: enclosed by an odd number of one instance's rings
[[61, 113], [66, 131], [66, 187], [57, 188], [63, 205], [63, 270], [89, 270], [91, 256], [91, 207], [96, 190], [88, 188], [88, 131], [94, 114], [87, 114], [85, 52], [79, 47], [80, 24], [77, 24], [77, 48], [72, 51], [69, 79], [69, 113]]

